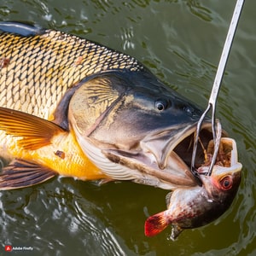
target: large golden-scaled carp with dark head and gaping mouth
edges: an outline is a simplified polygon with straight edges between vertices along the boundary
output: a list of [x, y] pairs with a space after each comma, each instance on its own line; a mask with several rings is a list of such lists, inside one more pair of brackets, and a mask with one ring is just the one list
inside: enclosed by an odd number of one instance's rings
[[[84, 38], [0, 23], [0, 189], [57, 174], [190, 188], [201, 109], [139, 61]], [[196, 166], [212, 139], [202, 125]]]

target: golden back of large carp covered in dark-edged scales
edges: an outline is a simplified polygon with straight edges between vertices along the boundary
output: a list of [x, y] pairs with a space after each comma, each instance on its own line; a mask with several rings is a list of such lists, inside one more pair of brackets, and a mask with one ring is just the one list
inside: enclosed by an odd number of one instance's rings
[[46, 30], [28, 37], [0, 33], [0, 106], [49, 119], [68, 88], [110, 70], [137, 72], [129, 55], [84, 38]]

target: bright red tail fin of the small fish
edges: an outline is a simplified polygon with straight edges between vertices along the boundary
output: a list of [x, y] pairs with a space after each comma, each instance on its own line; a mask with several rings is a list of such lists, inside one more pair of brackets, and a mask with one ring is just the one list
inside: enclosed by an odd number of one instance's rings
[[160, 212], [149, 217], [145, 222], [145, 235], [155, 236], [162, 230], [165, 230], [169, 222], [166, 218], [166, 212]]

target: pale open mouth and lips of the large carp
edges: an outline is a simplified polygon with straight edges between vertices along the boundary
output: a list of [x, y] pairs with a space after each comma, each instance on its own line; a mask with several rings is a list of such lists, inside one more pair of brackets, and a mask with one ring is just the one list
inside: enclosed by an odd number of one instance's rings
[[[108, 160], [141, 172], [141, 177], [133, 178], [137, 183], [157, 185], [163, 189], [195, 186], [197, 183], [190, 171], [195, 128], [196, 123], [172, 126], [148, 134], [135, 149], [103, 149], [102, 152]], [[222, 136], [226, 136], [225, 131], [222, 131]], [[211, 123], [202, 125], [200, 139], [196, 168], [204, 163], [204, 148], [212, 140]], [[154, 184], [153, 177], [158, 179], [158, 183]]]

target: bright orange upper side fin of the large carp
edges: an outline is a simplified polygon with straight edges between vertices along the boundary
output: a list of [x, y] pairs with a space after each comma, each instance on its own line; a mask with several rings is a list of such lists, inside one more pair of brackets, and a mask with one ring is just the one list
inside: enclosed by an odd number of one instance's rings
[[48, 120], [3, 107], [0, 107], [0, 130], [7, 135], [21, 137], [19, 146], [31, 150], [47, 146], [52, 137], [67, 132]]

